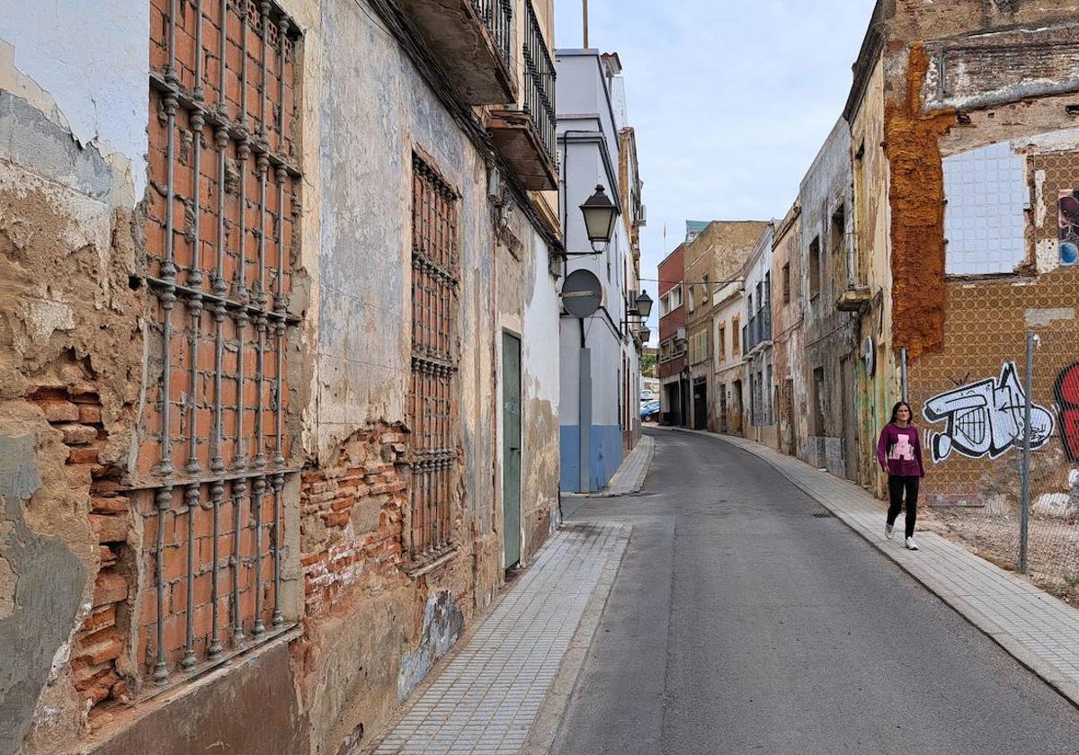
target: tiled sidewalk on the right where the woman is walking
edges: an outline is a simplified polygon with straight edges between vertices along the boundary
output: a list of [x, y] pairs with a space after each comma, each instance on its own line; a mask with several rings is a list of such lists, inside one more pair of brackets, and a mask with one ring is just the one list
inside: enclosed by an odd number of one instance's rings
[[886, 539], [884, 502], [852, 482], [751, 440], [679, 429], [710, 435], [771, 464], [1019, 662], [1079, 705], [1079, 609], [934, 533], [918, 532], [918, 551], [906, 550], [902, 537]]

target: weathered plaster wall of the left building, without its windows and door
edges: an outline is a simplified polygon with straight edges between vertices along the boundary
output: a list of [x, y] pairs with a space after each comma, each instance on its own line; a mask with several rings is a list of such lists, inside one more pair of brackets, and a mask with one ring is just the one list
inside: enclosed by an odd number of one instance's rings
[[[137, 452], [162, 369], [144, 238], [162, 193], [147, 180], [148, 126], [161, 121], [148, 14], [160, 8], [100, 5], [65, 0], [56, 19], [0, 19], [0, 637], [14, 648], [0, 660], [11, 723], [0, 751], [134, 752], [165, 738], [176, 752], [352, 752], [503, 581], [502, 327], [523, 338], [525, 561], [557, 521], [547, 245], [517, 211], [508, 233], [521, 246], [496, 264], [493, 156], [375, 10], [281, 2], [303, 36], [289, 301], [302, 321], [286, 366], [290, 461], [302, 471], [283, 489], [282, 535], [284, 613], [301, 623], [146, 701], [136, 624], [154, 615], [153, 551], [128, 486], [146, 475]], [[425, 572], [401, 552], [413, 150], [457, 191], [462, 221], [457, 548]], [[267, 726], [234, 726], [250, 716]]]

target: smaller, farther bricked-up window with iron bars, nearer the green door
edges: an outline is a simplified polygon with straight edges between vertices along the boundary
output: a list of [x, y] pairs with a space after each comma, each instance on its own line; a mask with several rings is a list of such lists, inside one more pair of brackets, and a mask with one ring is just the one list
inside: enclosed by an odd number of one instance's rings
[[457, 194], [412, 157], [412, 382], [409, 390], [411, 506], [406, 526], [415, 561], [452, 543], [456, 488]]

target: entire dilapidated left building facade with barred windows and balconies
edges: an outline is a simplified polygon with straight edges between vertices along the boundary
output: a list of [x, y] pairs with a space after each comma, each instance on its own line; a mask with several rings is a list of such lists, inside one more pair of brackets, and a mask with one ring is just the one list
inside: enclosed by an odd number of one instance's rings
[[551, 6], [105, 4], [0, 20], [0, 750], [353, 752], [557, 523]]

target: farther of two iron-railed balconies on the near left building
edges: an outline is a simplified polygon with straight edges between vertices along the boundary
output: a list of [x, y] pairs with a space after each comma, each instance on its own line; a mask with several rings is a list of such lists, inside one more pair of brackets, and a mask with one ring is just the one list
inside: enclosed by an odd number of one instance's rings
[[558, 186], [555, 160], [555, 63], [550, 59], [531, 0], [523, 0], [524, 70], [518, 107], [491, 110], [488, 129], [503, 159], [525, 189]]

